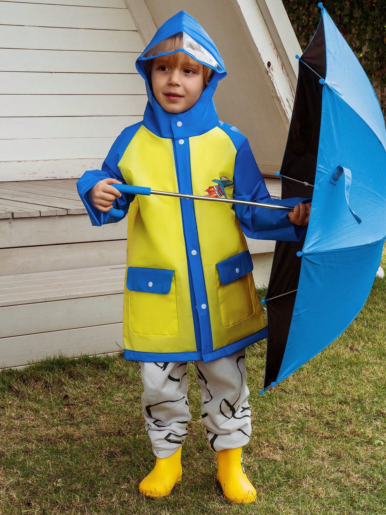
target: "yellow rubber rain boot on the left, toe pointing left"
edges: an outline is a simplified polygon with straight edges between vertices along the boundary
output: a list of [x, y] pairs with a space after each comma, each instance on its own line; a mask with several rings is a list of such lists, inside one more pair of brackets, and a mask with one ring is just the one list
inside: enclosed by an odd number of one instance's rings
[[146, 497], [169, 495], [182, 476], [181, 447], [169, 458], [156, 458], [154, 469], [139, 484], [139, 492]]

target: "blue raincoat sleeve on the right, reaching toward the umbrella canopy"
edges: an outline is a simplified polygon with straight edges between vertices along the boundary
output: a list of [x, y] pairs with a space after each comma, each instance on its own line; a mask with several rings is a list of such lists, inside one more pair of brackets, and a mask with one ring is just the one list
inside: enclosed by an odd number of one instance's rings
[[[284, 200], [272, 199], [247, 139], [236, 154], [233, 182], [233, 198], [237, 200], [289, 205], [290, 207], [309, 200], [298, 197]], [[305, 227], [294, 225], [288, 220], [289, 211], [242, 204], [233, 204], [233, 209], [244, 234], [249, 238], [299, 242], [306, 230]]]

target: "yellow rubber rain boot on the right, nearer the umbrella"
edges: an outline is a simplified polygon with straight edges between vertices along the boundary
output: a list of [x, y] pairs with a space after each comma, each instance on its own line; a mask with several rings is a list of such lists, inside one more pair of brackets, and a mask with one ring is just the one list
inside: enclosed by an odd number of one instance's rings
[[225, 497], [233, 503], [253, 503], [256, 490], [246, 476], [243, 465], [243, 448], [217, 452], [217, 480]]

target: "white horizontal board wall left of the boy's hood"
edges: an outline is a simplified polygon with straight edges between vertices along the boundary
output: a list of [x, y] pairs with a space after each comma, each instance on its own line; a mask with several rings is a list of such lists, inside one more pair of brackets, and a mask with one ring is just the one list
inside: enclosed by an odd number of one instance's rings
[[142, 119], [143, 46], [123, 0], [0, 0], [0, 180], [101, 162]]

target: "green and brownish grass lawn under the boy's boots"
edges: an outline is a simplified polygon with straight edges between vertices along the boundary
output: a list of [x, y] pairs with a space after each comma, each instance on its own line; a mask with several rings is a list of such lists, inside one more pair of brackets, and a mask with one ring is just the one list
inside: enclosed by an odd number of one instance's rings
[[[386, 259], [383, 260], [386, 265]], [[154, 464], [138, 365], [122, 354], [56, 358], [0, 373], [0, 513], [259, 515], [386, 513], [386, 278], [343, 335], [259, 396], [265, 341], [247, 351], [252, 505], [227, 502], [215, 454], [193, 419], [183, 476], [169, 497], [142, 498]]]

